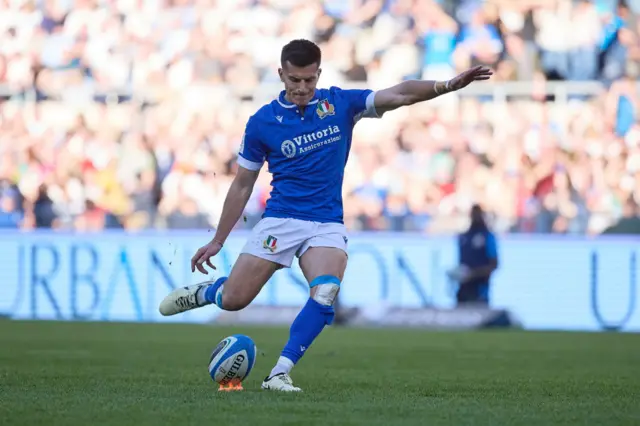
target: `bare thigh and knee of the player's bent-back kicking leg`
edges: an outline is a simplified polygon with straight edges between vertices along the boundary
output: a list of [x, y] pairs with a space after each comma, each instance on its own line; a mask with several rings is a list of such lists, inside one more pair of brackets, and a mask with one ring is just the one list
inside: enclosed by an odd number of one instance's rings
[[229, 311], [244, 308], [256, 298], [269, 278], [281, 267], [252, 254], [240, 254], [224, 284], [222, 306]]

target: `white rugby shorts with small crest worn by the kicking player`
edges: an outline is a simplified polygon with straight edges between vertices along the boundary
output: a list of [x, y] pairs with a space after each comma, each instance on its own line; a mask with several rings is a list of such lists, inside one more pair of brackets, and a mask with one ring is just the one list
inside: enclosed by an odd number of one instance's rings
[[311, 247], [333, 247], [347, 253], [347, 228], [341, 223], [267, 217], [251, 231], [242, 253], [290, 268], [294, 256]]

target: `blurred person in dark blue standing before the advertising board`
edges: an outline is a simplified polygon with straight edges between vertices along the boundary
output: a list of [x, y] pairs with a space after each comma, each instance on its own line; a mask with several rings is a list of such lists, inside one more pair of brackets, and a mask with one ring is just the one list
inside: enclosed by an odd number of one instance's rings
[[449, 272], [458, 284], [458, 306], [489, 306], [491, 276], [498, 268], [498, 245], [479, 205], [471, 208], [469, 229], [458, 236], [459, 265]]

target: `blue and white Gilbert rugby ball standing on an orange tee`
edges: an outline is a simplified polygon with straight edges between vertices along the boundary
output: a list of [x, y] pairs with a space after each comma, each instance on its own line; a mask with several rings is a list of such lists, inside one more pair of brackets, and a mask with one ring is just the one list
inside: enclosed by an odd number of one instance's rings
[[234, 334], [223, 339], [209, 359], [209, 375], [220, 385], [242, 382], [256, 362], [256, 351], [249, 336]]

